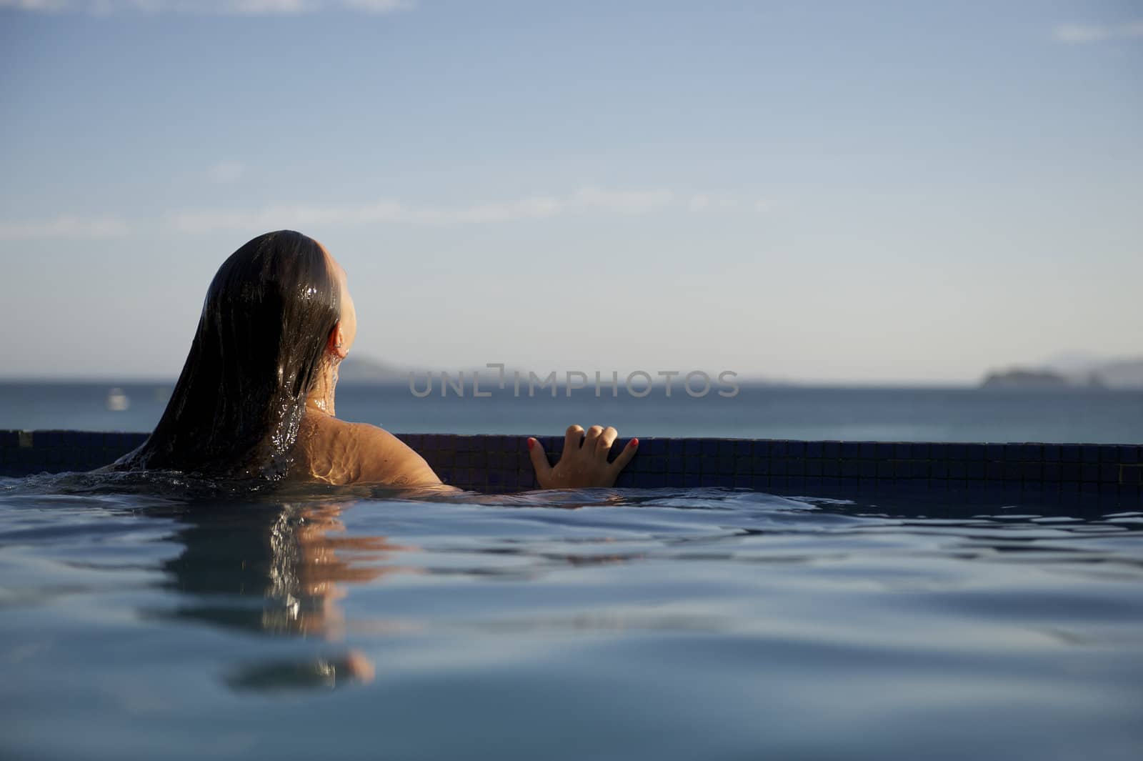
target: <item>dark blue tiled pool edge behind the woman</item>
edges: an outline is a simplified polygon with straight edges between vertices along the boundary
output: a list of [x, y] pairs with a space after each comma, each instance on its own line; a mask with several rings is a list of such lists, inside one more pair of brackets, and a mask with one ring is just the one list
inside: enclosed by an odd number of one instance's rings
[[[523, 435], [397, 434], [445, 480], [463, 489], [536, 487]], [[0, 475], [86, 471], [143, 443], [145, 433], [0, 431]], [[537, 436], [551, 458], [563, 436]], [[615, 443], [613, 454], [626, 443]], [[726, 487], [852, 495], [949, 490], [1112, 497], [1143, 503], [1143, 446], [640, 439], [617, 487]]]

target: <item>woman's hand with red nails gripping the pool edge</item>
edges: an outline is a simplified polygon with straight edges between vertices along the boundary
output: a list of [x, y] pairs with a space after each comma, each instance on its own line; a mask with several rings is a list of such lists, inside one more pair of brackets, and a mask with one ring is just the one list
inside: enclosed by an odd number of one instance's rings
[[586, 432], [578, 425], [569, 426], [563, 438], [563, 452], [554, 467], [547, 462], [544, 446], [537, 439], [528, 439], [528, 452], [539, 488], [582, 489], [614, 484], [639, 448], [639, 440], [632, 439], [615, 462], [608, 463], [607, 455], [618, 435], [615, 428], [601, 425], [593, 425]]

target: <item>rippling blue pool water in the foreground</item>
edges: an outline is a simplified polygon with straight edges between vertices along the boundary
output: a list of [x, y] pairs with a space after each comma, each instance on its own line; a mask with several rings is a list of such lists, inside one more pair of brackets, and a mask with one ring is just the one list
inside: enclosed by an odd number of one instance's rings
[[0, 664], [2, 758], [1137, 759], [1143, 513], [0, 479]]

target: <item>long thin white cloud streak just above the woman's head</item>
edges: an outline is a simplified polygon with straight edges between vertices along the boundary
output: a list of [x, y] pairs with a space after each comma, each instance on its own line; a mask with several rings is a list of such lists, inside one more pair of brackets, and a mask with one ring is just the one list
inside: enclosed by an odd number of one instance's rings
[[363, 224], [466, 225], [544, 219], [577, 210], [641, 214], [671, 203], [670, 191], [626, 191], [585, 187], [570, 195], [531, 195], [514, 201], [470, 203], [459, 207], [416, 206], [383, 199], [353, 206], [271, 206], [250, 211], [189, 210], [168, 215], [179, 232], [273, 230], [283, 226], [342, 226]]

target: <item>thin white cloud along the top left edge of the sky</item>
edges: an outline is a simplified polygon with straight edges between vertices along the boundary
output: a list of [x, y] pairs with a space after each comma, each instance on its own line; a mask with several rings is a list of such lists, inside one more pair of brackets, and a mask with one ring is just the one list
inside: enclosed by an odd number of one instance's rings
[[311, 14], [321, 10], [351, 10], [389, 14], [408, 10], [414, 0], [0, 0], [0, 8], [31, 13], [178, 13], [230, 16], [273, 16]]

